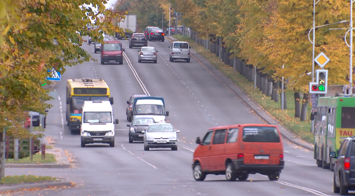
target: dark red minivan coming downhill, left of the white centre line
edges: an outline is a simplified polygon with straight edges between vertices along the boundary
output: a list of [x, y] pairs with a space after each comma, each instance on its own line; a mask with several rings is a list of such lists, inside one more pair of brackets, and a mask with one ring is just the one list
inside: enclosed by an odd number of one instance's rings
[[105, 62], [118, 62], [123, 64], [123, 52], [122, 43], [118, 40], [105, 41], [101, 44], [101, 64]]

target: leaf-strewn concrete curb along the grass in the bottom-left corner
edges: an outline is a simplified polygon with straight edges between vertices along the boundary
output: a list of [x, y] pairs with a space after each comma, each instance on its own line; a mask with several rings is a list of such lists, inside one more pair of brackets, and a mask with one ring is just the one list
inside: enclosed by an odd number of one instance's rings
[[6, 191], [17, 191], [21, 189], [30, 189], [30, 188], [49, 188], [49, 187], [72, 187], [72, 182], [54, 182], [54, 181], [47, 181], [47, 182], [35, 182], [35, 183], [22, 183], [22, 184], [14, 184], [14, 185], [1, 185], [0, 192]]

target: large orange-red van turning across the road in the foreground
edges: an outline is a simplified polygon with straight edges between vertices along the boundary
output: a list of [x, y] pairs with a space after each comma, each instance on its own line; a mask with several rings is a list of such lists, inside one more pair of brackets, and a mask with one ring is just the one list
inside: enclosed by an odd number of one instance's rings
[[249, 174], [278, 180], [285, 165], [281, 134], [275, 125], [235, 124], [207, 130], [193, 156], [193, 176], [226, 175], [227, 181], [245, 181]]

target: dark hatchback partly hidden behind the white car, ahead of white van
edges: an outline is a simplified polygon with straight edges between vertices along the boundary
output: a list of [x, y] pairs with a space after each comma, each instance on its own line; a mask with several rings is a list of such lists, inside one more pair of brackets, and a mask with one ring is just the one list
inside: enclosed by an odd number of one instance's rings
[[153, 123], [155, 123], [153, 117], [135, 117], [131, 124], [127, 124], [129, 127], [129, 143], [133, 143], [133, 141], [143, 141], [144, 134], [142, 134], [141, 131], [147, 130], [147, 127]]

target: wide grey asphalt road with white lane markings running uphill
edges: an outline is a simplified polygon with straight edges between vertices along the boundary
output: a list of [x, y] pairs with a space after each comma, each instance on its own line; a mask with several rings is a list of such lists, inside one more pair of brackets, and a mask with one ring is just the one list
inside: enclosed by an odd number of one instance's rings
[[[245, 182], [227, 182], [224, 175], [207, 175], [205, 181], [192, 177], [192, 155], [196, 137], [203, 137], [212, 126], [237, 123], [263, 123], [240, 102], [217, 78], [207, 72], [194, 58], [191, 62], [169, 61], [171, 44], [149, 42], [159, 52], [158, 63], [137, 62], [138, 48], [129, 49], [122, 41], [126, 57], [123, 65], [85, 62], [67, 68], [62, 81], [56, 86], [60, 100], [47, 117], [47, 136], [52, 135], [57, 147], [68, 150], [75, 157], [72, 169], [26, 169], [8, 172], [65, 177], [79, 183], [77, 188], [20, 192], [15, 195], [335, 195], [333, 173], [317, 168], [312, 152], [284, 142], [286, 166], [278, 181], [269, 181], [263, 175], [250, 175]], [[90, 54], [93, 45], [84, 44]], [[133, 74], [137, 73], [137, 76]], [[141, 80], [141, 83], [138, 80]], [[80, 135], [72, 135], [65, 122], [66, 79], [102, 78], [114, 96], [116, 147], [109, 145], [80, 146]], [[181, 130], [179, 149], [151, 149], [144, 151], [143, 143], [128, 143], [126, 101], [133, 92], [144, 92], [164, 97], [167, 120]], [[62, 124], [62, 117], [64, 122]], [[350, 194], [351, 195], [351, 194]], [[353, 194], [355, 195], [355, 194]]]

